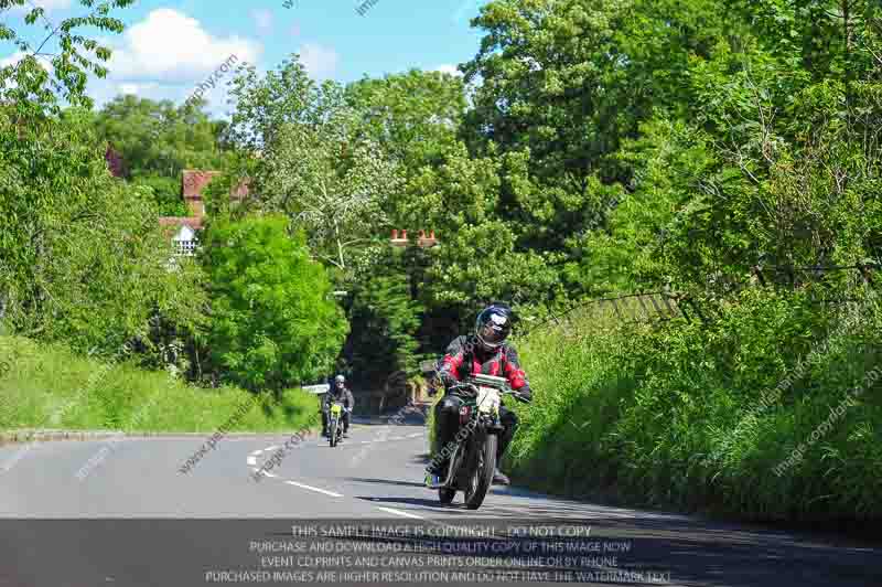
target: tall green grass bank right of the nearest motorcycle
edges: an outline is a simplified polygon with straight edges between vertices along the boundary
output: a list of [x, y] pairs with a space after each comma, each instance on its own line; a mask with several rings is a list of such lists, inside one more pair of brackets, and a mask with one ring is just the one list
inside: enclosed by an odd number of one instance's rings
[[[592, 312], [536, 332], [518, 342], [536, 402], [519, 408], [508, 466], [544, 490], [633, 504], [760, 520], [880, 519], [882, 382], [800, 463], [774, 472], [882, 365], [882, 312], [861, 311], [830, 338], [841, 308], [749, 290], [710, 327], [627, 325]], [[825, 340], [827, 351], [756, 409]], [[755, 420], [745, 419], [751, 410]]]

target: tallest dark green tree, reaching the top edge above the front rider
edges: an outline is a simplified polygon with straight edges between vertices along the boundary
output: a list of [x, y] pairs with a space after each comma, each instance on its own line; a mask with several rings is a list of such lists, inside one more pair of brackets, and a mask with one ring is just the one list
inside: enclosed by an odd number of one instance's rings
[[492, 143], [523, 167], [504, 185], [499, 214], [519, 244], [566, 249], [630, 183], [616, 156], [654, 110], [688, 102], [685, 72], [728, 31], [714, 0], [496, 0], [474, 24], [486, 34], [463, 66], [474, 88], [464, 125], [473, 151]]

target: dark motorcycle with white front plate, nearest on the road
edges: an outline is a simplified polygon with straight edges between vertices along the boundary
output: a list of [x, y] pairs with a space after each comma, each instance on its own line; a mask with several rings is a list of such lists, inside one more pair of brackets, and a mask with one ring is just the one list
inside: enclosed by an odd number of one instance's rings
[[454, 439], [447, 477], [443, 480], [428, 477], [426, 485], [437, 489], [438, 498], [444, 504], [451, 503], [456, 492], [462, 491], [465, 506], [477, 510], [496, 472], [496, 447], [504, 430], [499, 421], [502, 396], [518, 395], [506, 378], [494, 375], [473, 375], [456, 388], [466, 393], [462, 395], [460, 430]]

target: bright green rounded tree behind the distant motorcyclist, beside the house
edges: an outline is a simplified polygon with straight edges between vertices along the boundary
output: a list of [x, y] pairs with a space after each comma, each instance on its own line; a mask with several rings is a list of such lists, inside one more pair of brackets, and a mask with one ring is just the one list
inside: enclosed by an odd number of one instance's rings
[[288, 224], [215, 218], [203, 238], [211, 361], [249, 389], [280, 392], [326, 373], [347, 332], [324, 268]]

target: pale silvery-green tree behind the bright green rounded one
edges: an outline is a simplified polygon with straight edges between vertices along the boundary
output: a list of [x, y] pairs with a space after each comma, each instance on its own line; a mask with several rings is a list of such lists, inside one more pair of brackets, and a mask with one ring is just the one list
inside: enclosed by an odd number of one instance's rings
[[246, 153], [261, 153], [248, 166], [256, 204], [287, 214], [312, 250], [351, 278], [351, 257], [388, 225], [383, 203], [399, 183], [396, 164], [359, 131], [343, 88], [316, 86], [297, 55], [278, 73], [258, 79], [249, 71], [234, 86], [230, 136]]

